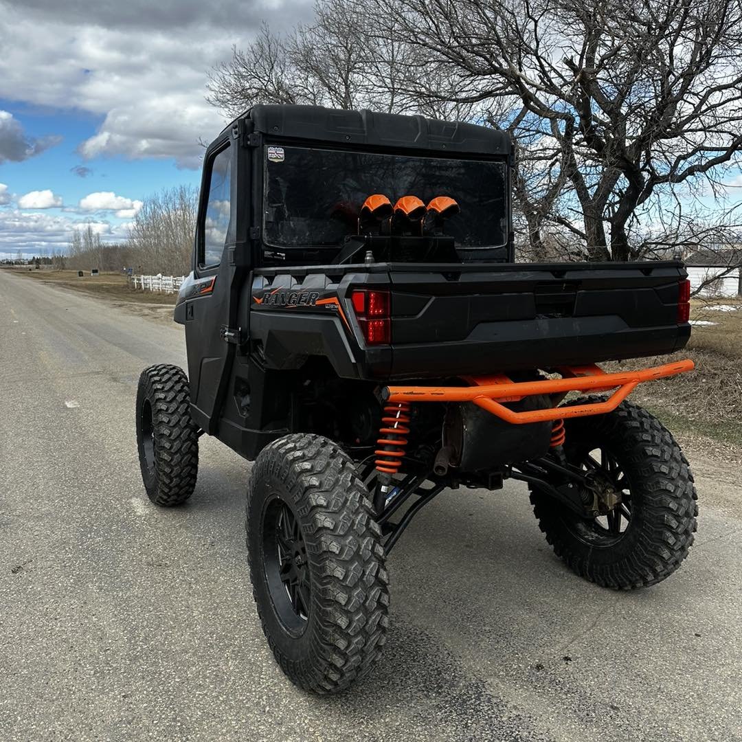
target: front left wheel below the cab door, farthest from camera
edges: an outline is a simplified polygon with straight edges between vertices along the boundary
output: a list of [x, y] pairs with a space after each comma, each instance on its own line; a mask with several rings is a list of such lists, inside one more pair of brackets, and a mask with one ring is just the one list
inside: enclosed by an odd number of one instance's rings
[[191, 418], [188, 378], [177, 366], [150, 366], [139, 376], [137, 449], [149, 499], [169, 508], [193, 493], [198, 428]]

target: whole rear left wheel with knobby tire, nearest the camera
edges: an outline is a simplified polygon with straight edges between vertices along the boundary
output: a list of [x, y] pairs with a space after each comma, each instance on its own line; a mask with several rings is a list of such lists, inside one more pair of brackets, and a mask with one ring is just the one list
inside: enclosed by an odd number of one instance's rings
[[309, 434], [269, 444], [252, 467], [246, 528], [257, 614], [283, 672], [318, 693], [364, 677], [386, 640], [389, 579], [349, 457]]

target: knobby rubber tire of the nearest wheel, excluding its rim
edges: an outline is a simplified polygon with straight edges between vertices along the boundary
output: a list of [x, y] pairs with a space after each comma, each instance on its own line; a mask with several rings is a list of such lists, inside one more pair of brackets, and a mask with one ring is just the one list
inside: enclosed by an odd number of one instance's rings
[[262, 579], [260, 558], [250, 550], [257, 614], [275, 660], [292, 682], [321, 694], [339, 692], [370, 671], [387, 638], [389, 576], [381, 530], [353, 462], [329, 439], [292, 434], [263, 449], [248, 488], [247, 528], [259, 517], [252, 510], [252, 491], [270, 475], [283, 479], [298, 505], [315, 562], [312, 609], [320, 618], [313, 624], [310, 659], [290, 660], [272, 636], [266, 623], [272, 607], [261, 605], [255, 591]]

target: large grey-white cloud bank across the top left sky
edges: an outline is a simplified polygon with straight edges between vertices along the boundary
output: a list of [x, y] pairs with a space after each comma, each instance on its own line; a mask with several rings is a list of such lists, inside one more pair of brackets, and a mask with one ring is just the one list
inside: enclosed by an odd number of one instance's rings
[[199, 139], [225, 124], [204, 99], [209, 69], [261, 21], [278, 28], [312, 13], [308, 0], [292, 1], [291, 13], [286, 3], [237, 0], [219, 12], [197, 0], [96, 2], [84, 12], [50, 0], [1, 6], [0, 98], [102, 116], [79, 146], [88, 160], [174, 157], [189, 168], [200, 165]]

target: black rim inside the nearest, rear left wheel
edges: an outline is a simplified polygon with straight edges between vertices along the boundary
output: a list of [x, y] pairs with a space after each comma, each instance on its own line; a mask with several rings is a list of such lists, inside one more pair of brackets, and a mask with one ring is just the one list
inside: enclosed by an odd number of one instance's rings
[[276, 614], [291, 634], [303, 634], [311, 613], [306, 543], [296, 513], [275, 496], [263, 516], [263, 562]]

